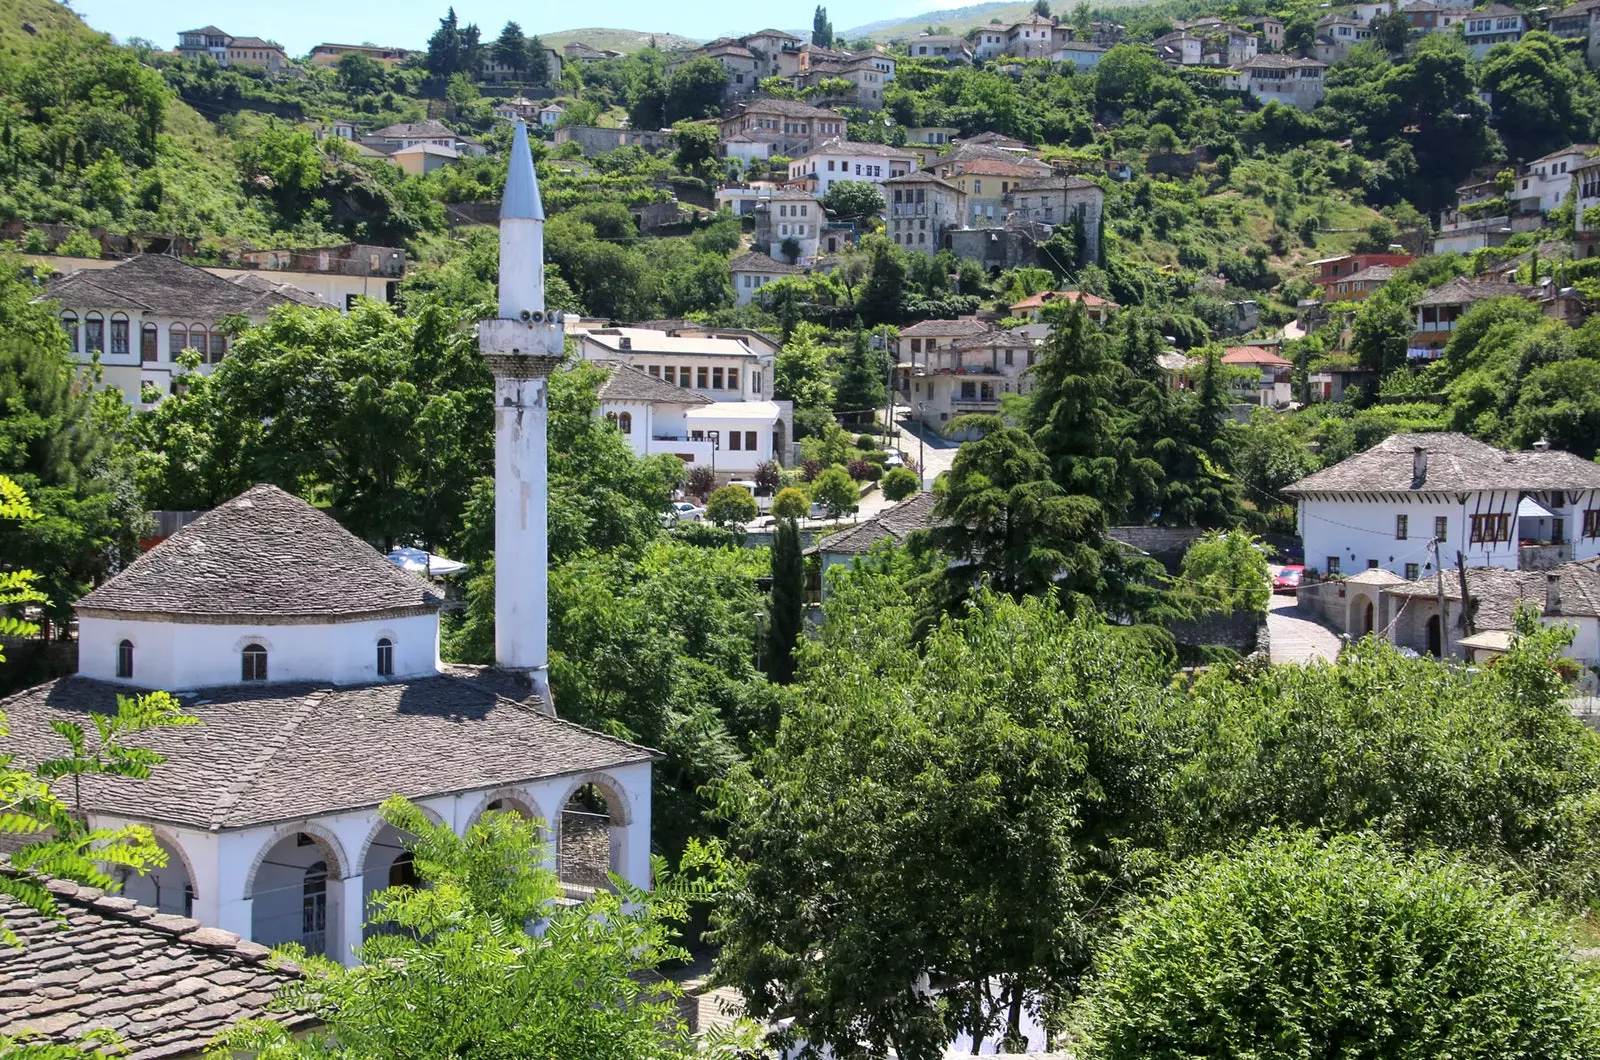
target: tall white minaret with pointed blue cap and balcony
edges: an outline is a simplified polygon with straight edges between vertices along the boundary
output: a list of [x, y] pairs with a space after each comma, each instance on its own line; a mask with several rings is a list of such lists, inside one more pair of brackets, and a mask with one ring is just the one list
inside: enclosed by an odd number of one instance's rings
[[494, 373], [494, 663], [549, 682], [549, 375], [562, 362], [560, 314], [544, 312], [544, 203], [517, 122], [501, 202], [499, 317], [478, 322]]

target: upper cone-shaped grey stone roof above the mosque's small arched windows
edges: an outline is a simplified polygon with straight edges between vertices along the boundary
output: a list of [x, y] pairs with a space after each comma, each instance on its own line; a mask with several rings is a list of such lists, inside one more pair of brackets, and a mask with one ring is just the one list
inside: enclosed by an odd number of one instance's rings
[[298, 496], [256, 485], [77, 602], [80, 612], [354, 618], [437, 608], [438, 592]]

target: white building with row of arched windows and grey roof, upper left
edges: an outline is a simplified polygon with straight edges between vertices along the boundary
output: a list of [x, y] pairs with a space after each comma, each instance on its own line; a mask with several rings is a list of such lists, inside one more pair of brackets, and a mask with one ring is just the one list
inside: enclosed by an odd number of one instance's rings
[[198, 352], [198, 370], [210, 373], [227, 354], [226, 317], [242, 314], [261, 323], [278, 306], [333, 307], [259, 272], [226, 280], [168, 255], [56, 277], [45, 298], [61, 306], [74, 359], [85, 367], [99, 362], [101, 386], [122, 391], [134, 407], [144, 404], [146, 386], [171, 392], [184, 351]]

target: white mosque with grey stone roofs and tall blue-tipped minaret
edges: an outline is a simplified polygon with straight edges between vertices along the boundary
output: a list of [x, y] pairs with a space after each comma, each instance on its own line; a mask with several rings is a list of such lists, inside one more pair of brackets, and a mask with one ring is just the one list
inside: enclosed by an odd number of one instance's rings
[[[501, 219], [501, 315], [480, 323], [496, 376], [496, 666], [438, 663], [434, 588], [270, 485], [202, 516], [78, 602], [80, 673], [5, 700], [6, 749], [59, 754], [51, 722], [165, 689], [198, 716], [141, 745], [147, 780], [93, 778], [91, 828], [152, 829], [168, 865], [126, 897], [208, 927], [354, 961], [366, 903], [411, 882], [378, 815], [403, 794], [464, 829], [486, 810], [550, 823], [570, 893], [602, 869], [650, 885], [656, 754], [557, 721], [546, 656], [546, 317], [542, 208], [518, 123]], [[568, 809], [582, 793], [602, 815]], [[606, 850], [557, 860], [603, 829]]]

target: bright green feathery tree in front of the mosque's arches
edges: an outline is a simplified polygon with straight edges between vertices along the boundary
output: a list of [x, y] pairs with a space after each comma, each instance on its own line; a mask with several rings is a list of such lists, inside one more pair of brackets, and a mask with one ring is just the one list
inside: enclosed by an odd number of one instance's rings
[[[254, 1020], [224, 1034], [227, 1049], [282, 1058], [706, 1055], [683, 1025], [682, 991], [656, 974], [688, 956], [674, 924], [696, 897], [664, 863], [650, 892], [618, 882], [616, 893], [570, 906], [544, 868], [542, 821], [490, 812], [456, 836], [398, 796], [382, 817], [406, 836], [424, 885], [373, 897], [378, 930], [360, 964], [293, 954], [310, 974], [274, 1006], [312, 1014], [315, 1031]], [[749, 1044], [731, 1036], [710, 1055], [730, 1060]]]

